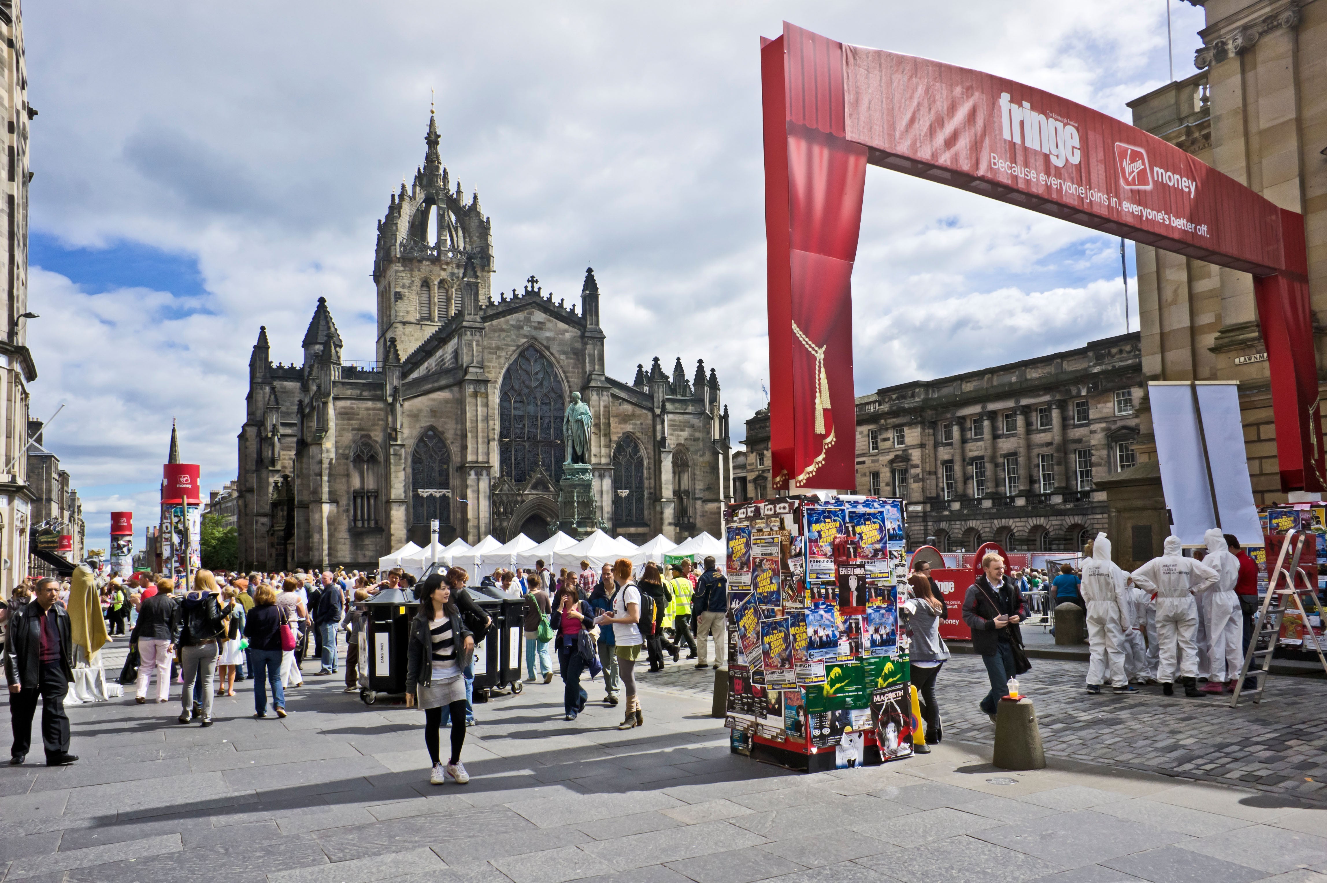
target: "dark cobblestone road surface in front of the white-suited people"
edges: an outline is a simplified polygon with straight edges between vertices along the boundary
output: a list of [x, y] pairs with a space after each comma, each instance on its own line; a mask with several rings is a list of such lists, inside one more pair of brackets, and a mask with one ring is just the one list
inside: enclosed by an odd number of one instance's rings
[[[1161, 687], [1116, 696], [1084, 689], [1087, 663], [1034, 659], [1019, 677], [1036, 704], [1042, 742], [1050, 754], [1165, 776], [1292, 792], [1327, 803], [1327, 680], [1273, 676], [1258, 705], [1230, 696], [1166, 697]], [[638, 676], [678, 695], [710, 696], [713, 671], [685, 658], [658, 674]], [[945, 738], [990, 745], [994, 725], [977, 707], [990, 683], [981, 656], [954, 655], [937, 689]], [[1181, 692], [1181, 691], [1177, 691]]]

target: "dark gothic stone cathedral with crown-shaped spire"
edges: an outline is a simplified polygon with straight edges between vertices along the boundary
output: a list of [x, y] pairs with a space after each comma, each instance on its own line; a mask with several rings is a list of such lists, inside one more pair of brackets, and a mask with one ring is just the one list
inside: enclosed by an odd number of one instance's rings
[[259, 330], [239, 434], [243, 566], [376, 566], [426, 545], [433, 520], [443, 542], [567, 530], [563, 414], [577, 391], [601, 526], [634, 542], [717, 536], [729, 418], [714, 370], [689, 379], [656, 358], [632, 383], [608, 377], [589, 269], [579, 310], [533, 276], [495, 300], [491, 220], [453, 188], [433, 118], [425, 143], [378, 223], [376, 362], [342, 361], [325, 298], [300, 365], [273, 365]]

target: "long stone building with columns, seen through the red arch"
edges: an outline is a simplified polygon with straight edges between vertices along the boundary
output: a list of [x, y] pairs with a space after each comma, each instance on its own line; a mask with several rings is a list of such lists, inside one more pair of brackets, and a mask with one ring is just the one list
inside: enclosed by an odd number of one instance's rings
[[[857, 493], [908, 504], [908, 548], [1080, 549], [1097, 481], [1135, 464], [1139, 334], [857, 396]], [[770, 487], [770, 412], [747, 420], [739, 499]]]

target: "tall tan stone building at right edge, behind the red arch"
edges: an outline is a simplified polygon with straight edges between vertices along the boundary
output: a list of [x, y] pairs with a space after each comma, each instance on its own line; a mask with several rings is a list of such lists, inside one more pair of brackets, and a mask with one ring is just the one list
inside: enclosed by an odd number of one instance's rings
[[[1198, 73], [1129, 102], [1133, 125], [1304, 216], [1319, 391], [1327, 381], [1327, 3], [1206, 0]], [[1237, 381], [1254, 500], [1281, 489], [1267, 353], [1249, 273], [1137, 245], [1144, 381]], [[1113, 554], [1147, 558], [1169, 522], [1148, 400], [1139, 465], [1109, 479]], [[1143, 548], [1133, 538], [1145, 538]]]

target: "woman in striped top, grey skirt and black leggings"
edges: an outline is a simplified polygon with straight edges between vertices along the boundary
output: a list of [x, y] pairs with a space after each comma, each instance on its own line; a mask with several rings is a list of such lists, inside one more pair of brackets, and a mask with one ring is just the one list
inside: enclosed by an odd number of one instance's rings
[[[460, 764], [460, 746], [466, 742], [466, 681], [460, 672], [475, 651], [475, 638], [466, 628], [447, 582], [438, 573], [425, 581], [419, 613], [410, 620], [406, 707], [418, 703], [423, 709], [423, 741], [433, 760], [429, 781], [442, 785], [447, 781], [445, 777], [451, 776], [458, 785], [464, 785], [470, 776]], [[451, 760], [446, 766], [438, 754], [443, 708], [451, 712]]]

